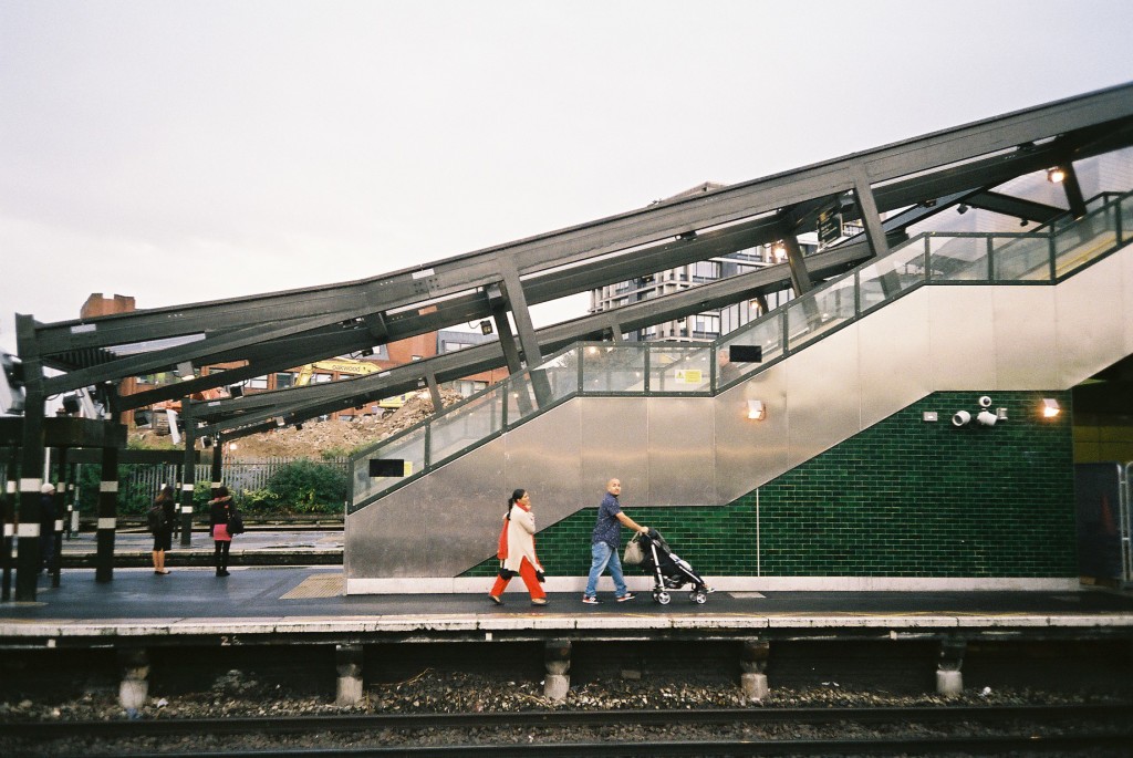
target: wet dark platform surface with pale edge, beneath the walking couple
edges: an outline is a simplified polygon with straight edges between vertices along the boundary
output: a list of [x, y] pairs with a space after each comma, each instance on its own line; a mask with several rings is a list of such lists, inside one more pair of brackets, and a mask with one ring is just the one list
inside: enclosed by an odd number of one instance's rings
[[[546, 607], [533, 607], [519, 582], [496, 606], [483, 595], [342, 594], [334, 567], [236, 568], [229, 577], [186, 568], [169, 574], [118, 569], [109, 582], [94, 571], [63, 572], [60, 586], [41, 574], [34, 603], [0, 603], [0, 638], [51, 629], [93, 627], [103, 633], [189, 633], [207, 628], [244, 632], [282, 628], [303, 631], [382, 631], [392, 629], [760, 629], [811, 628], [1025, 628], [1126, 629], [1133, 633], [1133, 597], [1109, 590], [946, 591], [946, 593], [741, 593], [717, 591], [704, 605], [676, 593], [668, 605], [648, 594], [588, 606], [577, 594], [551, 594]], [[142, 630], [146, 631], [142, 631]], [[118, 630], [117, 632], [113, 630]], [[76, 629], [77, 631], [77, 629]], [[60, 631], [60, 633], [66, 633]]]

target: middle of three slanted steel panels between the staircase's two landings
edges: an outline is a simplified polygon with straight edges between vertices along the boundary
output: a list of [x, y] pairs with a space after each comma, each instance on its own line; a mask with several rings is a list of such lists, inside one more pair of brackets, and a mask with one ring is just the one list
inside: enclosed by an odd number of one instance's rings
[[858, 361], [858, 324], [791, 357], [786, 423], [792, 467], [861, 428]]

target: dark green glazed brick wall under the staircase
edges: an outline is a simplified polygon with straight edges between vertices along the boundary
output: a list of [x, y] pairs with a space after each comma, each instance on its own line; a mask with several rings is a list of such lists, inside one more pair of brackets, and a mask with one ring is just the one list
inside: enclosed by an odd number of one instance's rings
[[[712, 577], [1076, 576], [1070, 393], [990, 393], [1007, 420], [953, 426], [980, 394], [929, 395], [725, 506], [623, 508]], [[1062, 416], [1039, 417], [1045, 397]], [[537, 535], [548, 573], [587, 573], [600, 495]]]

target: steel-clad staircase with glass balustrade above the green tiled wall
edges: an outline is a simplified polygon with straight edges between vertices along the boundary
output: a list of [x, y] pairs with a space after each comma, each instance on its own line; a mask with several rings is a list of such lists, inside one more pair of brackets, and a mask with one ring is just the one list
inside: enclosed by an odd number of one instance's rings
[[1133, 355], [1131, 241], [1133, 193], [1102, 195], [1036, 232], [918, 236], [710, 346], [574, 346], [355, 459], [348, 591], [446, 589], [514, 486], [540, 528], [615, 476], [636, 508], [726, 505], [931, 392], [1068, 390]]

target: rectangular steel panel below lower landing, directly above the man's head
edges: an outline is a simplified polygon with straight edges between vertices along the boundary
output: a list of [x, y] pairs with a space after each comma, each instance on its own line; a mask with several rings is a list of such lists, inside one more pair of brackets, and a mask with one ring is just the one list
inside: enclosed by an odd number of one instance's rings
[[580, 398], [582, 499], [597, 505], [606, 482], [621, 479], [624, 506], [648, 505], [649, 412], [641, 398]]

